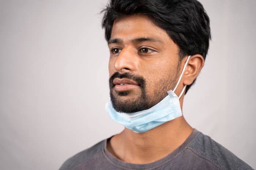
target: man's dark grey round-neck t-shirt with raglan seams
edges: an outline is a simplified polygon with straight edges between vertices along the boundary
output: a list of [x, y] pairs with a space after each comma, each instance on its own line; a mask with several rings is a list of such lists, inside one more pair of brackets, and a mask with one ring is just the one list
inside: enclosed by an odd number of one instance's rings
[[133, 164], [114, 157], [101, 141], [69, 158], [60, 170], [251, 170], [252, 167], [196, 129], [184, 143], [156, 162]]

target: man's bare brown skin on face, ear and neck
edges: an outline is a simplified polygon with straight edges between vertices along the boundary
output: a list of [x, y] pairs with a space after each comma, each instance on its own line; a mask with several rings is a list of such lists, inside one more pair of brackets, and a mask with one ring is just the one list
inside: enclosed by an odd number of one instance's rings
[[[134, 41], [145, 37], [150, 37], [154, 41]], [[144, 15], [131, 15], [116, 19], [110, 40], [113, 39], [118, 39], [118, 42], [112, 41], [108, 44], [110, 50], [109, 75], [111, 76], [115, 72], [121, 74], [131, 72], [143, 76], [146, 80], [147, 96], [153, 100], [157, 98], [155, 89], [167, 82], [164, 80], [176, 76], [178, 64], [180, 64], [178, 70], [180, 75], [188, 57], [186, 56], [179, 63], [178, 46], [163, 29]], [[185, 85], [189, 85], [195, 80], [203, 65], [202, 55], [191, 56], [181, 82], [175, 91], [177, 96], [180, 95]], [[175, 83], [166, 84], [166, 91], [173, 89], [176, 83], [177, 80]], [[138, 86], [129, 90], [129, 95], [117, 96], [118, 99], [125, 103], [136, 100], [141, 95], [141, 89]], [[117, 95], [115, 91], [113, 93]], [[180, 98], [181, 109], [183, 99], [184, 94]], [[146, 133], [135, 133], [125, 128], [120, 134], [114, 135], [109, 140], [107, 149], [124, 162], [150, 163], [177, 149], [192, 131], [193, 128], [186, 122], [184, 116], [180, 116]]]

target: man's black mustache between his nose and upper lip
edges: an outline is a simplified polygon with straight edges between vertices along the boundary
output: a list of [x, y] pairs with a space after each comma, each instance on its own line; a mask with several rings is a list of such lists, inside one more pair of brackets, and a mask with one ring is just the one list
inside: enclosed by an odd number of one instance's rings
[[144, 89], [145, 88], [145, 85], [146, 85], [146, 81], [145, 79], [142, 77], [142, 76], [138, 76], [138, 75], [133, 75], [129, 72], [125, 72], [123, 74], [120, 74], [119, 72], [115, 72], [110, 78], [109, 78], [109, 87], [110, 89], [114, 88], [115, 87], [115, 84], [113, 83], [113, 80], [115, 78], [119, 78], [119, 79], [122, 79], [122, 78], [127, 78], [127, 79], [130, 79], [130, 80], [133, 80], [134, 82], [138, 83], [140, 88]]

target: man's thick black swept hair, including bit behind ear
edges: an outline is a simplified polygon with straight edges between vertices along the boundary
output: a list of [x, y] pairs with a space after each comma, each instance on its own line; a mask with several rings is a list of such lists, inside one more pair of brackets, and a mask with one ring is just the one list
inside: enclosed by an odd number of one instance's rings
[[[210, 19], [197, 0], [110, 0], [102, 12], [102, 28], [107, 41], [116, 18], [143, 14], [164, 29], [177, 44], [180, 60], [195, 54], [206, 58], [211, 39]], [[186, 93], [192, 84], [187, 86]]]

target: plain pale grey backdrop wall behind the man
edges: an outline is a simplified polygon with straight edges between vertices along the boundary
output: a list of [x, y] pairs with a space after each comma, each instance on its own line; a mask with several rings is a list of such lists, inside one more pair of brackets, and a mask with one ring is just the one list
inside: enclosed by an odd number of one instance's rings
[[[187, 121], [256, 168], [255, 0], [201, 0], [211, 19]], [[106, 0], [0, 1], [0, 169], [54, 170], [120, 132], [104, 106]]]

